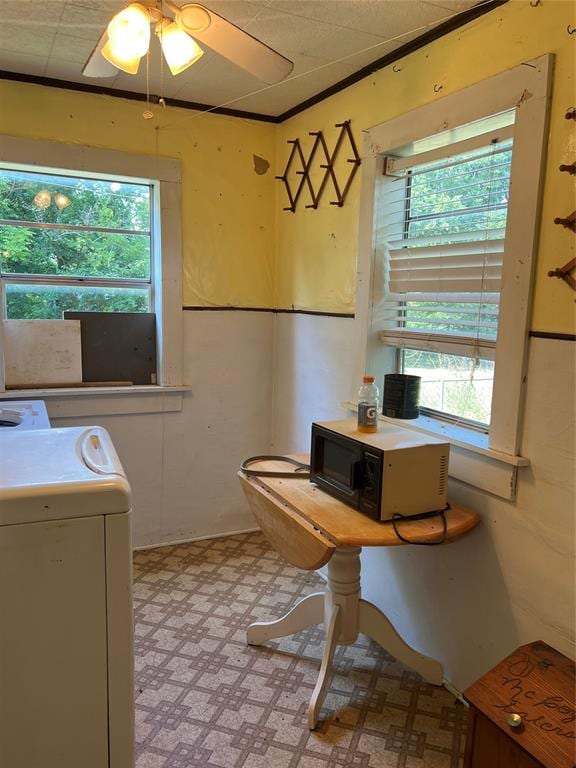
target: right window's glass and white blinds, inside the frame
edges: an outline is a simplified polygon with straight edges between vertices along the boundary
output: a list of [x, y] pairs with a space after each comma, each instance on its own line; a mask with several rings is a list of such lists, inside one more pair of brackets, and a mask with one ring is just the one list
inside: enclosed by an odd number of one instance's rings
[[375, 217], [380, 339], [398, 350], [400, 372], [421, 377], [423, 413], [478, 429], [491, 417], [513, 120], [461, 126], [452, 136], [470, 138], [408, 156], [418, 147], [393, 150]]

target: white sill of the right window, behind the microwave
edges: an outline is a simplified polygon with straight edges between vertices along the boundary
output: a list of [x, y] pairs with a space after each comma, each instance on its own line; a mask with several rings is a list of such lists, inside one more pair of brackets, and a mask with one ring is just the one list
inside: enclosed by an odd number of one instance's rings
[[[351, 401], [343, 403], [343, 406], [354, 413], [358, 411], [357, 404]], [[379, 419], [446, 440], [450, 443], [450, 477], [503, 499], [514, 499], [518, 468], [530, 464], [523, 456], [512, 456], [489, 448], [488, 435], [473, 429], [429, 416], [410, 420], [380, 416]]]

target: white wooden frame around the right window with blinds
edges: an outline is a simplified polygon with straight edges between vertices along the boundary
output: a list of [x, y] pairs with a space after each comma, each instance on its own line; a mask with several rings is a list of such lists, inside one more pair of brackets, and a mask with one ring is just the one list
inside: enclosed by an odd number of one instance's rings
[[[358, 380], [365, 371], [369, 351], [378, 348], [377, 332], [370, 327], [370, 312], [377, 288], [378, 259], [373, 236], [374, 203], [383, 157], [394, 148], [425, 139], [489, 115], [515, 109], [514, 153], [506, 230], [506, 257], [502, 275], [500, 327], [496, 345], [492, 420], [480, 450], [494, 457], [518, 456], [530, 321], [532, 275], [539, 240], [539, 219], [551, 100], [553, 55], [546, 54], [514, 69], [400, 115], [365, 132], [360, 195], [356, 332]], [[395, 370], [390, 350], [386, 367]], [[434, 419], [403, 426], [449, 435], [450, 428], [433, 425]], [[440, 421], [440, 420], [437, 420]], [[427, 422], [427, 423], [424, 423]], [[432, 429], [431, 429], [432, 427]], [[467, 435], [466, 433], [470, 433]], [[455, 444], [477, 450], [479, 435], [458, 430]]]

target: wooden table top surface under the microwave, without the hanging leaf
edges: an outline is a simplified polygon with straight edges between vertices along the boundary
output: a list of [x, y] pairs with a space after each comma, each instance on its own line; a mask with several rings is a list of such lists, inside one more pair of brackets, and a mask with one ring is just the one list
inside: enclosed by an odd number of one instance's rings
[[[293, 454], [293, 458], [308, 462], [308, 454]], [[263, 461], [250, 469], [289, 471], [283, 462]], [[240, 473], [241, 474], [241, 473]], [[399, 539], [390, 522], [378, 522], [352, 509], [310, 482], [309, 478], [247, 477], [255, 489], [265, 489], [292, 512], [299, 514], [320, 530], [336, 546], [393, 547], [406, 542]], [[459, 539], [480, 522], [476, 512], [451, 504], [446, 512], [446, 543]], [[426, 520], [397, 521], [400, 534], [414, 543], [442, 539], [440, 517]]]

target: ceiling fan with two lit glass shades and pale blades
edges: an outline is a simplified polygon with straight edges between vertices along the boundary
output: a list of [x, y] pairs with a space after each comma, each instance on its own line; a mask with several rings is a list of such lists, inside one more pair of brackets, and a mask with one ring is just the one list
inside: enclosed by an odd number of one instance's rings
[[199, 3], [156, 5], [132, 2], [117, 13], [104, 30], [82, 70], [86, 77], [114, 77], [119, 70], [135, 75], [140, 59], [150, 47], [150, 25], [160, 40], [162, 53], [173, 75], [183, 72], [204, 51], [197, 41], [246, 69], [266, 83], [287, 77], [294, 64], [262, 41]]

